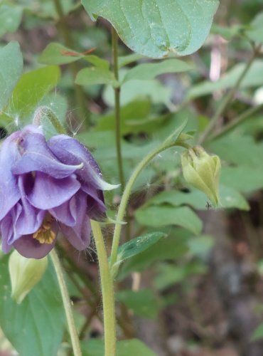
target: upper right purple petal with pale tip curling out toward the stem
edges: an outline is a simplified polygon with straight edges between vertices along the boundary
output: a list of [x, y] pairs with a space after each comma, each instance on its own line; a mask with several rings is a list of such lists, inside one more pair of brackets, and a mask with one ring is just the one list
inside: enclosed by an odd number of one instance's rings
[[84, 164], [82, 169], [75, 172], [82, 182], [97, 189], [114, 189], [116, 187], [104, 182], [100, 167], [92, 154], [77, 140], [67, 135], [57, 135], [50, 138], [48, 147], [63, 163]]

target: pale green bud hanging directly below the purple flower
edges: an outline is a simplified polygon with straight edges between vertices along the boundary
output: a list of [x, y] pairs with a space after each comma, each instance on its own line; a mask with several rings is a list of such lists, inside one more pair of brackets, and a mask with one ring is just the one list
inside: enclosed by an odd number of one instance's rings
[[11, 297], [20, 304], [23, 298], [41, 280], [48, 266], [48, 258], [36, 260], [26, 258], [17, 251], [11, 253], [9, 257], [9, 274], [11, 278]]

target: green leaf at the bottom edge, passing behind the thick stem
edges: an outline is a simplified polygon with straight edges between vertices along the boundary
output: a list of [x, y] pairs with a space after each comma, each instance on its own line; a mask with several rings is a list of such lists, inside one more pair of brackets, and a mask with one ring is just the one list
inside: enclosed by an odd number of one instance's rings
[[[81, 342], [83, 356], [104, 356], [102, 339], [90, 339]], [[157, 356], [154, 351], [137, 339], [117, 342], [117, 356]]]

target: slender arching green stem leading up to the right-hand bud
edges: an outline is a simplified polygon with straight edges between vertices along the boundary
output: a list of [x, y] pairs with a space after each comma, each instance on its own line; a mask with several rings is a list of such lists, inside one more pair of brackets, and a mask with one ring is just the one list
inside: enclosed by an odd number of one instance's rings
[[[151, 161], [151, 159], [156, 157], [156, 155], [158, 155], [160, 152], [166, 150], [169, 147], [173, 147], [175, 145], [182, 145], [184, 147], [183, 143], [178, 143], [178, 142], [168, 143], [166, 145], [162, 144], [160, 147], [157, 147], [156, 149], [151, 151], [146, 157], [144, 157], [144, 159], [142, 159], [141, 162], [134, 169], [134, 172], [132, 172], [132, 175], [129, 178], [129, 181], [127, 182], [127, 185], [126, 185], [124, 192], [122, 194], [122, 200], [119, 204], [119, 210], [118, 210], [117, 218], [116, 218], [117, 224], [115, 225], [113, 241], [112, 241], [112, 254], [110, 257], [110, 268], [112, 268], [114, 263], [116, 263], [116, 261], [117, 261], [119, 239], [120, 239], [121, 231], [122, 231], [122, 224], [119, 224], [119, 223], [124, 220], [124, 216], [125, 216], [126, 209], [127, 209], [127, 204], [129, 201], [129, 196], [132, 192], [132, 186], [134, 185], [136, 178], [139, 176], [139, 174], [144, 169], [144, 167], [146, 167], [146, 165]], [[116, 271], [114, 271], [114, 273], [115, 272]]]

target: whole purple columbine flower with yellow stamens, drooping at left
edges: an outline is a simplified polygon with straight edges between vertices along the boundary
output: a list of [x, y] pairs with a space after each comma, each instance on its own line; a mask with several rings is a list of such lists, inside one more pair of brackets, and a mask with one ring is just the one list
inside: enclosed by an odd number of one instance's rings
[[90, 219], [105, 216], [107, 184], [97, 162], [77, 140], [57, 135], [46, 141], [41, 127], [11, 134], [0, 152], [2, 249], [43, 258], [58, 232], [77, 250], [90, 244]]

